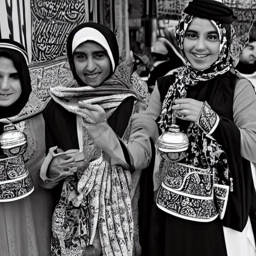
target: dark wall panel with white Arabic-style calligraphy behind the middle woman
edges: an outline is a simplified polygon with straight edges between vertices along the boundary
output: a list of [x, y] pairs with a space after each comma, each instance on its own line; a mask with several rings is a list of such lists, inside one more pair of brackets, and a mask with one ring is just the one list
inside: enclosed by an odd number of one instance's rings
[[31, 0], [32, 60], [66, 54], [70, 30], [85, 21], [84, 0]]

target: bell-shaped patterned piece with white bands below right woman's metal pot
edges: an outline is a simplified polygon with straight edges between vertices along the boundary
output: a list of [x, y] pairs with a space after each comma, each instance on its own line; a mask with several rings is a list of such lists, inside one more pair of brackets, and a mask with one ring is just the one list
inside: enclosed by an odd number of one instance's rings
[[211, 221], [218, 214], [213, 199], [215, 180], [213, 168], [172, 163], [158, 192], [157, 206], [185, 219]]

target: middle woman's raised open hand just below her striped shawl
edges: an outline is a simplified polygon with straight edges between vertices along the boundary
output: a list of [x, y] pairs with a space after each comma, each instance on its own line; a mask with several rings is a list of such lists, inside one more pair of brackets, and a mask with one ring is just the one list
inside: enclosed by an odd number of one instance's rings
[[95, 124], [106, 117], [106, 113], [100, 105], [85, 104], [82, 101], [78, 101], [78, 105], [79, 108], [75, 113], [80, 115], [88, 124]]

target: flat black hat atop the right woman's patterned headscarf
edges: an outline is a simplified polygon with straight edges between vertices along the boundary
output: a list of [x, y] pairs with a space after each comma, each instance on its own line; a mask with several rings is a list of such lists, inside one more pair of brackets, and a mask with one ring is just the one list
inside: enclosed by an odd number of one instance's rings
[[217, 21], [221, 24], [230, 24], [236, 17], [227, 5], [215, 0], [192, 0], [189, 1], [184, 13]]

